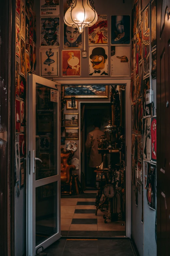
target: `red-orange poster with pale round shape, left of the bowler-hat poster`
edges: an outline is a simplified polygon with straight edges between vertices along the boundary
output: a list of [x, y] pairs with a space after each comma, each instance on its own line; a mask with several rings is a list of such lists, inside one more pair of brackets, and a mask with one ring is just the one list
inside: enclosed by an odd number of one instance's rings
[[81, 51], [62, 50], [62, 77], [81, 76]]

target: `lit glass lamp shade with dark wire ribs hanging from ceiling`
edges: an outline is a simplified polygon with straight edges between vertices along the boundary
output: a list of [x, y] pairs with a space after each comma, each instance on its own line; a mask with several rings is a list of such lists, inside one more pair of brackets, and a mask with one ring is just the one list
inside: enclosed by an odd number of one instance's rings
[[84, 27], [91, 27], [97, 22], [97, 12], [92, 9], [89, 0], [74, 0], [64, 15], [67, 26], [77, 27], [80, 33]]

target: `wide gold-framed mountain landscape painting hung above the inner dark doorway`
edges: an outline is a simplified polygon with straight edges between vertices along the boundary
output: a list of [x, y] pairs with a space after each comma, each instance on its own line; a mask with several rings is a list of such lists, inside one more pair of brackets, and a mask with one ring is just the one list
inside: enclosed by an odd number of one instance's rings
[[[72, 87], [65, 87], [65, 98], [71, 98]], [[108, 85], [78, 85], [74, 88], [76, 98], [108, 98]]]

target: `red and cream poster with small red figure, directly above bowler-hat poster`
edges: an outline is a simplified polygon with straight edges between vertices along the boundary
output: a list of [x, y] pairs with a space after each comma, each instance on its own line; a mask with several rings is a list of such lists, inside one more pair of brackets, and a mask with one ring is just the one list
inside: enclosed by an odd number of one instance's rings
[[97, 22], [89, 27], [89, 45], [108, 43], [107, 15], [97, 17]]

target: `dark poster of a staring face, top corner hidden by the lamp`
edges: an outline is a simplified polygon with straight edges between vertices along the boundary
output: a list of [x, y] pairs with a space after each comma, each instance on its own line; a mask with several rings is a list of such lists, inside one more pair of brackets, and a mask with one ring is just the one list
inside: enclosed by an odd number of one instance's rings
[[82, 33], [79, 33], [77, 27], [70, 27], [63, 23], [64, 28], [64, 49], [82, 48]]

